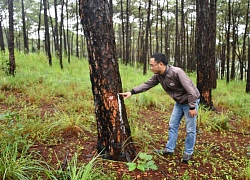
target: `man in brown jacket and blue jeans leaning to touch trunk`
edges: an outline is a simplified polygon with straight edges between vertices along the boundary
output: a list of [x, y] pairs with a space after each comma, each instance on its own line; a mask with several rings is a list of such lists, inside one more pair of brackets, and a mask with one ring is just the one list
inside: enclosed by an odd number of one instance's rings
[[120, 93], [120, 95], [126, 99], [133, 94], [147, 91], [160, 83], [176, 103], [169, 121], [169, 136], [166, 148], [156, 150], [156, 152], [164, 155], [173, 155], [178, 138], [179, 125], [182, 117], [185, 116], [186, 141], [182, 161], [188, 162], [194, 152], [196, 141], [196, 118], [200, 93], [181, 68], [168, 65], [164, 54], [153, 54], [150, 59], [150, 68], [154, 75], [147, 82], [134, 87], [130, 92]]

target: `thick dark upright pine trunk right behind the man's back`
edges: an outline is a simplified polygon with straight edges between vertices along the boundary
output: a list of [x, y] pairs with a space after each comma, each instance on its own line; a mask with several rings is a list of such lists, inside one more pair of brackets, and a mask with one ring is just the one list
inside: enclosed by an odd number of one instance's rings
[[[211, 4], [210, 4], [211, 3]], [[214, 40], [210, 39], [212, 36], [210, 33], [215, 33], [211, 26], [215, 23], [210, 21], [212, 2], [208, 0], [196, 0], [196, 59], [197, 59], [197, 87], [201, 93], [201, 103], [205, 106], [214, 109], [212, 103], [212, 83], [211, 79], [214, 78], [211, 71], [214, 69], [213, 57], [211, 57], [214, 50]]]

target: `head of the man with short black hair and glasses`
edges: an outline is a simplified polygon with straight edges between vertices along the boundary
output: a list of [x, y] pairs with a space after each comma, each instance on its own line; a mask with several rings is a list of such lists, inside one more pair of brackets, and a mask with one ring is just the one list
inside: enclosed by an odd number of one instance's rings
[[155, 53], [150, 59], [150, 68], [154, 74], [163, 74], [166, 70], [168, 61], [166, 56], [162, 53]]

